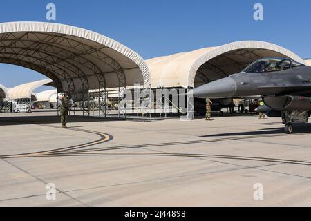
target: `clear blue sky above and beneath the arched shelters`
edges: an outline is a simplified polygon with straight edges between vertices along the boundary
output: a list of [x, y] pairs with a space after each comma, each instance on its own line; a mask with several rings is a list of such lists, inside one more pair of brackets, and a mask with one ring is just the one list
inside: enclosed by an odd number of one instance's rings
[[[57, 7], [56, 23], [99, 32], [144, 59], [241, 40], [270, 41], [311, 57], [310, 0], [12, 0], [1, 2], [0, 22], [46, 21], [47, 3]], [[264, 21], [254, 21], [255, 3], [263, 4]], [[7, 87], [44, 78], [0, 64]]]

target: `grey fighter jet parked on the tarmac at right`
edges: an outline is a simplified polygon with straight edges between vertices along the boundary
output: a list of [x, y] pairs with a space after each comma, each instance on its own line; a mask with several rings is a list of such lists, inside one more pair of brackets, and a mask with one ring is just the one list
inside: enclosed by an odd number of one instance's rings
[[261, 95], [262, 111], [281, 116], [285, 133], [292, 133], [294, 123], [306, 123], [310, 117], [311, 67], [290, 58], [267, 57], [241, 73], [195, 88], [193, 94], [210, 99]]

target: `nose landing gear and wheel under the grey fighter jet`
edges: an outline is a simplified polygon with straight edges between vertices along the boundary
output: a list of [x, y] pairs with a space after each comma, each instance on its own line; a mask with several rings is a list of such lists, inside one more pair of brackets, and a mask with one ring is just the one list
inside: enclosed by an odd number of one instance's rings
[[282, 122], [285, 124], [285, 133], [292, 133], [294, 131], [293, 123], [306, 123], [309, 117], [309, 111], [282, 111]]

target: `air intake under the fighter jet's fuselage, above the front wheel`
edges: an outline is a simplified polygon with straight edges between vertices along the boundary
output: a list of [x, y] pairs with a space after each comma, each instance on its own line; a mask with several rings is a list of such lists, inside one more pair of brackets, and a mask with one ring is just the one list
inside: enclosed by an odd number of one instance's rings
[[303, 96], [267, 96], [263, 98], [265, 105], [276, 111], [311, 110], [311, 97]]

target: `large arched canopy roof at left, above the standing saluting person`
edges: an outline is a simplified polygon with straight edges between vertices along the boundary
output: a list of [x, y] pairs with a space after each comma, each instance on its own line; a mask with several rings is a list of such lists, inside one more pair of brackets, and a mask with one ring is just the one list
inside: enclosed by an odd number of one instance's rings
[[0, 63], [36, 70], [75, 100], [86, 100], [90, 89], [150, 84], [148, 67], [133, 50], [57, 23], [0, 23]]

